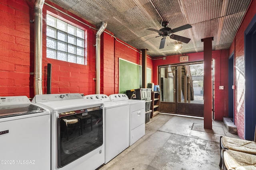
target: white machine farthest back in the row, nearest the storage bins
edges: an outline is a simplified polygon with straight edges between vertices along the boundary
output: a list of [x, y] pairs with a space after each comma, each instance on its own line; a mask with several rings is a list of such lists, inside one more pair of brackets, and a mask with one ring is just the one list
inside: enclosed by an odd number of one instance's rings
[[129, 146], [145, 135], [145, 100], [132, 100], [126, 94], [111, 94], [110, 101], [129, 104]]

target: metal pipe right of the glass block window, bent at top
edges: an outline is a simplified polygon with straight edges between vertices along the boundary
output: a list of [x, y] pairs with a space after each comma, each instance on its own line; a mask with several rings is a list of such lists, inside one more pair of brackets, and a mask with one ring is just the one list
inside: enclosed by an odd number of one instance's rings
[[107, 23], [102, 22], [101, 27], [96, 33], [96, 93], [100, 94], [100, 35], [106, 28]]

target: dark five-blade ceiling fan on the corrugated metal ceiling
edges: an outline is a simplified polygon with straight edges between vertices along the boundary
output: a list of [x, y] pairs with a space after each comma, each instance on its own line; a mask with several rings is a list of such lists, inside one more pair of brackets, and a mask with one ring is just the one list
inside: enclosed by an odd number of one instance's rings
[[165, 39], [166, 39], [167, 36], [169, 36], [171, 39], [175, 39], [175, 40], [181, 41], [183, 43], [188, 43], [190, 41], [190, 38], [186, 38], [186, 37], [182, 37], [180, 35], [173, 34], [173, 33], [176, 33], [178, 31], [182, 31], [184, 29], [192, 28], [192, 26], [190, 24], [186, 24], [186, 25], [180, 26], [178, 28], [174, 28], [174, 29], [171, 29], [171, 28], [167, 27], [167, 25], [169, 25], [169, 23], [167, 21], [164, 21], [164, 22], [162, 22], [162, 26], [164, 28], [161, 28], [160, 30], [153, 29], [153, 28], [148, 28], [148, 30], [150, 30], [150, 31], [158, 32], [159, 36], [157, 36], [157, 37], [161, 37], [161, 36], [163, 37], [161, 39], [159, 49], [164, 48], [164, 43], [165, 43]]

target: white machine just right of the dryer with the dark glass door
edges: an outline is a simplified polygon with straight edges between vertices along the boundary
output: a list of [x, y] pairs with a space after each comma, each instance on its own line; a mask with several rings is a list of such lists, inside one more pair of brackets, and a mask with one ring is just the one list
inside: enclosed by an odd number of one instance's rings
[[105, 94], [91, 94], [84, 98], [104, 102], [106, 164], [129, 147], [129, 105], [111, 102]]

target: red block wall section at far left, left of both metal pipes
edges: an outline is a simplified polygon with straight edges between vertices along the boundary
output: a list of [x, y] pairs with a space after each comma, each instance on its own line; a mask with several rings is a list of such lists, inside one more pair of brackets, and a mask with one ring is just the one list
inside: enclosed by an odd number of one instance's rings
[[0, 96], [30, 96], [29, 20], [25, 1], [0, 2]]

